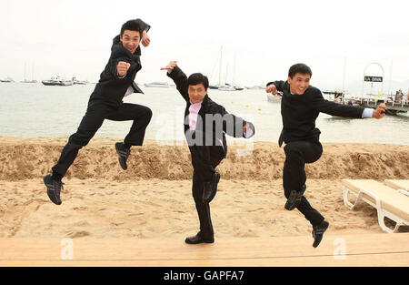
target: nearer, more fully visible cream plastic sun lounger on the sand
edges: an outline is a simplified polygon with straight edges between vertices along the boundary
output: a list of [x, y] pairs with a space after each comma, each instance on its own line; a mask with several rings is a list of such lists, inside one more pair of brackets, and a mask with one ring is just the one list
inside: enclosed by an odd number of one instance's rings
[[[348, 194], [354, 194], [354, 204], [348, 200]], [[343, 179], [344, 204], [350, 209], [360, 200], [373, 206], [378, 214], [378, 223], [386, 232], [396, 232], [401, 226], [409, 226], [409, 197], [374, 180]], [[384, 218], [396, 223], [394, 229], [385, 226]]]

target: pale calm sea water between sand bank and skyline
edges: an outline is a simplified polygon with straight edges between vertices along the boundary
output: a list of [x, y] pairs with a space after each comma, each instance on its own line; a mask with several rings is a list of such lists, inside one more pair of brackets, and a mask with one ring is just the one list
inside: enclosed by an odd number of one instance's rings
[[[144, 87], [124, 101], [150, 107], [145, 139], [184, 140], [185, 100], [175, 87]], [[0, 136], [69, 137], [85, 115], [95, 84], [46, 87], [41, 83], [0, 83]], [[227, 112], [254, 123], [254, 141], [277, 142], [282, 129], [280, 104], [270, 103], [264, 90], [208, 90]], [[125, 137], [131, 121], [105, 120], [95, 137]], [[409, 116], [349, 119], [320, 114], [316, 127], [322, 142], [409, 145]]]

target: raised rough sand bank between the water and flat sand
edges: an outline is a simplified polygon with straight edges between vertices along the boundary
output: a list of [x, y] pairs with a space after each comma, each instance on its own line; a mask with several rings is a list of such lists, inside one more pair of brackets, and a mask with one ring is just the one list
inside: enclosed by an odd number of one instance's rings
[[[115, 154], [115, 139], [93, 139], [80, 150], [66, 178], [190, 179], [192, 166], [186, 146], [159, 147], [147, 141], [132, 148], [129, 169], [123, 171]], [[66, 138], [0, 137], [0, 180], [39, 178], [50, 172], [61, 154]], [[284, 150], [274, 143], [256, 142], [250, 156], [228, 148], [228, 156], [218, 170], [224, 179], [274, 180], [282, 178]], [[408, 178], [409, 146], [370, 144], [324, 144], [320, 160], [307, 165], [308, 178]]]

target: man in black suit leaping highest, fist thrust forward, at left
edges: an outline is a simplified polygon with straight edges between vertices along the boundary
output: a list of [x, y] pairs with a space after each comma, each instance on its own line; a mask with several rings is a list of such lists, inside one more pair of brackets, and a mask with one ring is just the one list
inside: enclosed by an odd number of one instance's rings
[[150, 25], [140, 19], [126, 22], [119, 36], [115, 36], [111, 56], [101, 73], [100, 80], [89, 98], [88, 107], [75, 134], [68, 139], [58, 162], [52, 168], [52, 175], [44, 178], [47, 195], [56, 205], [61, 204], [61, 179], [74, 162], [79, 149], [85, 147], [105, 118], [114, 121], [134, 120], [124, 142], [117, 142], [115, 149], [121, 167], [126, 169], [126, 159], [131, 146], [142, 146], [145, 128], [149, 124], [152, 111], [148, 107], [124, 103], [123, 98], [132, 93], [143, 93], [135, 84], [136, 73], [142, 68], [140, 42], [149, 46], [146, 32]]

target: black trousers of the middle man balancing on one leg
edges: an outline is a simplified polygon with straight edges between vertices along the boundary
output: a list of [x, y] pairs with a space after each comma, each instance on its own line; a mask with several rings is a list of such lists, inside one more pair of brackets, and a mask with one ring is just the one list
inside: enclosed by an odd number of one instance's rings
[[193, 146], [189, 147], [192, 155], [194, 174], [192, 179], [192, 195], [200, 222], [200, 233], [203, 237], [213, 237], [214, 230], [210, 215], [209, 203], [203, 201], [203, 190], [205, 181], [212, 178], [216, 168], [224, 156], [218, 148]]

